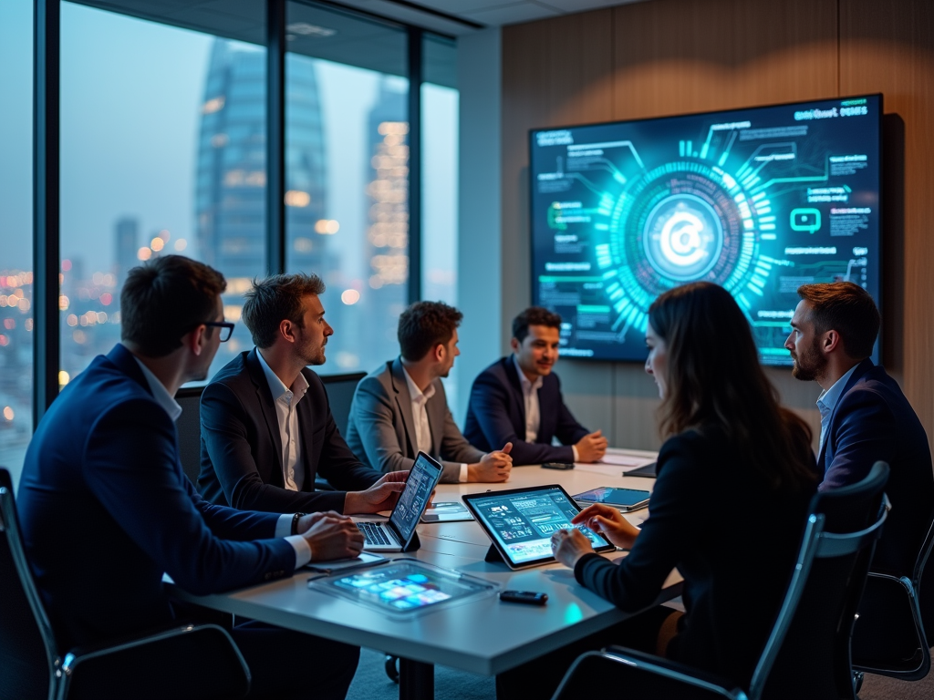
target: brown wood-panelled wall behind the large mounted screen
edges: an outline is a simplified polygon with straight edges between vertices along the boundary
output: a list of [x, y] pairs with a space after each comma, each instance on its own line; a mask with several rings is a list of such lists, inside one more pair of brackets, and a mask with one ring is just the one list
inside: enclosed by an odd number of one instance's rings
[[[504, 28], [504, 321], [530, 295], [530, 128], [882, 91], [885, 363], [934, 436], [932, 15], [931, 0], [649, 0]], [[658, 398], [641, 367], [562, 361], [559, 372], [572, 409], [602, 417], [594, 427], [612, 422], [616, 444], [658, 446]], [[769, 375], [816, 440], [820, 388]]]

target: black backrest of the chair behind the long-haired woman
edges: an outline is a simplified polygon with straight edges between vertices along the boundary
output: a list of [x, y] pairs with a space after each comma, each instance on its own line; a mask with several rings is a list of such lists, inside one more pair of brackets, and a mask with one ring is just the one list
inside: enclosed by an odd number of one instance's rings
[[814, 496], [785, 601], [750, 684], [752, 698], [850, 698], [850, 636], [882, 534], [888, 465]]

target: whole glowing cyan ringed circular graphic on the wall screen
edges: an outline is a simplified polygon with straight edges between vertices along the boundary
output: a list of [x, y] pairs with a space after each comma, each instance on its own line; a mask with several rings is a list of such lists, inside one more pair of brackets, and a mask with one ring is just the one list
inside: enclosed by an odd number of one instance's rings
[[645, 329], [659, 294], [690, 281], [725, 287], [749, 308], [745, 293], [758, 293], [771, 267], [758, 252], [758, 218], [770, 210], [765, 194], [754, 203], [746, 191], [718, 165], [684, 159], [604, 194], [597, 259], [620, 338]]

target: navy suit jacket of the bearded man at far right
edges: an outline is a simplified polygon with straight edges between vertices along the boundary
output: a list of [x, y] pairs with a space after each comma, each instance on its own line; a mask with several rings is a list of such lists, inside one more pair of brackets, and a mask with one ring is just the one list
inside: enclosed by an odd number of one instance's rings
[[898, 383], [864, 359], [856, 366], [833, 413], [817, 457], [819, 489], [856, 483], [876, 460], [891, 469], [885, 493], [892, 511], [872, 559], [876, 571], [911, 576], [934, 514], [934, 472], [927, 434]]

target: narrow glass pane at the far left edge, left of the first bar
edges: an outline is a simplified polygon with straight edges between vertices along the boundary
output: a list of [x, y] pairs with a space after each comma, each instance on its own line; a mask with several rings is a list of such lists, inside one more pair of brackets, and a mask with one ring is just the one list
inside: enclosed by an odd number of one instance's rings
[[33, 3], [0, 3], [0, 466], [33, 433]]

